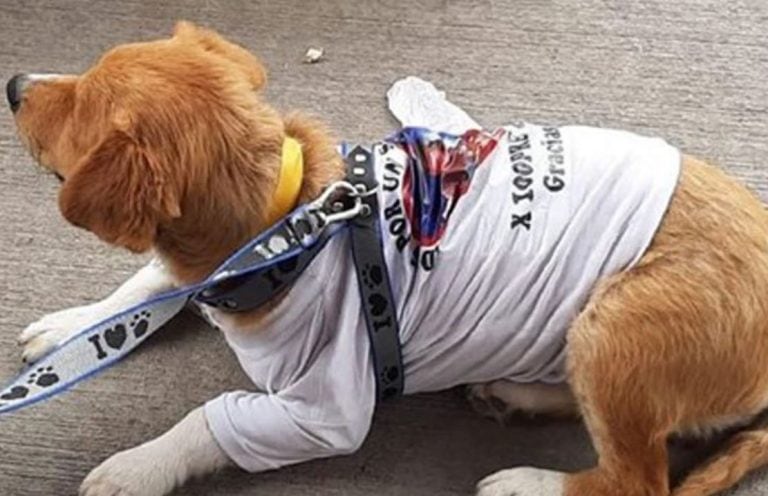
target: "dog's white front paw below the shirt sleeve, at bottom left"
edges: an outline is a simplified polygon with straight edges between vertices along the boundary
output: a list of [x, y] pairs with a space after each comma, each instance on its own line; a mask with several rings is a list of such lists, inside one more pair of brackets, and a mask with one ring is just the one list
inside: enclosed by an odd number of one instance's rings
[[163, 496], [174, 487], [150, 446], [122, 451], [96, 467], [80, 486], [80, 496]]

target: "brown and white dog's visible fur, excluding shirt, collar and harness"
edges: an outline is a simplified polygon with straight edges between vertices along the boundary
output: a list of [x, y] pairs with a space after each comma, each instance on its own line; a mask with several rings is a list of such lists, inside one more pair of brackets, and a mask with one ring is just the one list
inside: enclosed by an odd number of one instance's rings
[[[182, 22], [171, 38], [117, 47], [82, 75], [9, 83], [22, 140], [62, 180], [64, 217], [162, 260], [101, 302], [30, 325], [20, 338], [26, 360], [118, 309], [199, 281], [263, 230], [286, 136], [304, 152], [299, 202], [343, 175], [322, 123], [280, 115], [259, 94], [265, 82], [253, 55]], [[768, 214], [745, 187], [685, 157], [650, 249], [632, 270], [600, 281], [569, 330], [570, 390], [474, 388], [511, 409], [580, 412], [598, 466], [569, 475], [506, 470], [479, 494], [704, 496], [768, 463], [768, 430], [749, 427], [670, 489], [666, 447], [672, 433], [745, 424], [768, 407], [767, 295]], [[227, 325], [253, 324], [266, 311]], [[196, 409], [105, 461], [81, 494], [162, 495], [229, 463]]]

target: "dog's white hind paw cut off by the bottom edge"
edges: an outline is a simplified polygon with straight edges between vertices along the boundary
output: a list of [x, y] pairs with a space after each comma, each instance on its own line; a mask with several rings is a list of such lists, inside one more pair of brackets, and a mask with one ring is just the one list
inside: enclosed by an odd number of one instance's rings
[[565, 476], [561, 472], [520, 467], [501, 470], [477, 484], [477, 496], [560, 496]]

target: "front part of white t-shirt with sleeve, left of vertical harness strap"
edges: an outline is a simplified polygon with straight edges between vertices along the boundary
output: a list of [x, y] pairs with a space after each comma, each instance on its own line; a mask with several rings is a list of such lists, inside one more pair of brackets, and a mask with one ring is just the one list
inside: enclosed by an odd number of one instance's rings
[[332, 298], [326, 280], [305, 278], [263, 329], [228, 336], [260, 392], [225, 393], [205, 414], [219, 446], [249, 472], [349, 454], [368, 434], [376, 381], [355, 273], [345, 270], [333, 276]]

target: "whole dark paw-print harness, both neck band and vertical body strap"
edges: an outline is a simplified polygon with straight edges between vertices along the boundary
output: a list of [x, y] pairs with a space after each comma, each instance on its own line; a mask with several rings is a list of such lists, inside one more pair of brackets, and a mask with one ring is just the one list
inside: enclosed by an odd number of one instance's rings
[[[346, 180], [357, 189], [359, 195], [347, 196], [346, 199], [359, 198], [363, 204], [361, 213], [349, 221], [352, 256], [371, 342], [376, 396], [384, 400], [402, 394], [405, 378], [400, 351], [400, 326], [382, 247], [373, 154], [357, 146], [347, 154], [345, 160]], [[335, 198], [335, 201], [342, 205], [344, 198]], [[313, 240], [309, 249], [297, 256], [281, 259], [281, 252], [303, 244], [303, 238], [314, 231], [314, 223], [316, 219], [307, 217], [291, 219], [277, 226], [266, 241], [253, 246], [250, 253], [228, 268], [244, 269], [255, 262], [273, 258], [280, 262], [266, 270], [212, 285], [196, 296], [197, 301], [229, 312], [244, 312], [258, 308], [286, 290], [330, 239], [328, 234], [321, 235], [319, 239]]]

